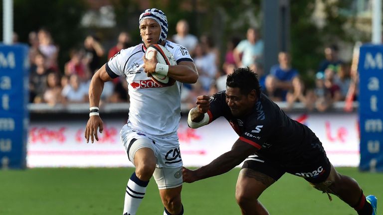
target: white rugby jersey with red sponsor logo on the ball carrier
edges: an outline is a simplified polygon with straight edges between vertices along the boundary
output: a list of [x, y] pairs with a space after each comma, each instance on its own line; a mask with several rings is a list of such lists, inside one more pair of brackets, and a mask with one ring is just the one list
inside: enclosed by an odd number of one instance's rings
[[[166, 40], [165, 47], [177, 63], [193, 61], [188, 50]], [[176, 81], [170, 87], [162, 87], [144, 72], [146, 47], [143, 43], [121, 50], [106, 64], [112, 78], [125, 75], [130, 97], [128, 125], [153, 135], [167, 136], [177, 132], [181, 118], [181, 87]]]

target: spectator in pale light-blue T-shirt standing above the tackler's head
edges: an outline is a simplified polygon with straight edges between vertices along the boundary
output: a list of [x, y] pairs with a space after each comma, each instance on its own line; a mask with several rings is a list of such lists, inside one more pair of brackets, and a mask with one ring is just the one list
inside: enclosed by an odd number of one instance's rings
[[238, 68], [250, 66], [254, 62], [262, 63], [263, 41], [258, 30], [249, 28], [246, 37], [234, 49], [234, 60]]

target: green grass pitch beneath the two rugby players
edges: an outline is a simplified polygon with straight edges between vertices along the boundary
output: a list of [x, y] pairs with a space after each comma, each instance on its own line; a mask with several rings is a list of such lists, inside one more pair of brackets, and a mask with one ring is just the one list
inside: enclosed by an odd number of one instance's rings
[[[0, 171], [0, 215], [121, 215], [132, 168], [44, 168]], [[355, 178], [366, 195], [378, 197], [382, 215], [383, 174], [338, 168]], [[184, 184], [186, 215], [238, 215], [235, 183], [239, 169]], [[271, 215], [356, 215], [333, 196], [313, 189], [303, 179], [285, 174], [260, 201]], [[162, 215], [163, 206], [152, 179], [138, 215]]]

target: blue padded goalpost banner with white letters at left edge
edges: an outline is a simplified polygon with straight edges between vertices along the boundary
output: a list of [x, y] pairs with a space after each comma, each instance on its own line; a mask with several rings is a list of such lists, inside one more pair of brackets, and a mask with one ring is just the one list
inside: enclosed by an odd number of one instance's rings
[[0, 169], [26, 167], [28, 84], [28, 46], [0, 44]]

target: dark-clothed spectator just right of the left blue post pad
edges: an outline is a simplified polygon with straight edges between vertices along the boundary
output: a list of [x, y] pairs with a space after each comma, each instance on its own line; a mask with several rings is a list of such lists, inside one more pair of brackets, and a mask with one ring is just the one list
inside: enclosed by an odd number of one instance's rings
[[33, 64], [30, 67], [29, 75], [29, 102], [43, 102], [43, 93], [46, 88], [46, 76], [50, 69], [46, 68], [46, 58], [41, 52], [37, 52]]

